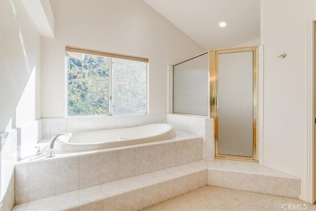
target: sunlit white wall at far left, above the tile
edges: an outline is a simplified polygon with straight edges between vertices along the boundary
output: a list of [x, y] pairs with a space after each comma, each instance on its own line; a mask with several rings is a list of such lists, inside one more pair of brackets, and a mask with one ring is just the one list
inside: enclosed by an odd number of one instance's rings
[[1, 1], [0, 132], [40, 118], [40, 34], [20, 0]]

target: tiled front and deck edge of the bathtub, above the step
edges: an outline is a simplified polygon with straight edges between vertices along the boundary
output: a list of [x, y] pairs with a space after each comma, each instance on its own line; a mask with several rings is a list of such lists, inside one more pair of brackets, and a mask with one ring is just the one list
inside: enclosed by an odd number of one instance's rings
[[22, 160], [15, 165], [15, 204], [201, 160], [202, 138], [176, 132], [164, 141]]

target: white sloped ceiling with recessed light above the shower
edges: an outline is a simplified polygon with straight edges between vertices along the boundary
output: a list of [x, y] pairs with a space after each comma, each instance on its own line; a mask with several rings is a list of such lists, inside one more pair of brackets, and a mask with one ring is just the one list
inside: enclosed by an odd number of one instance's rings
[[[260, 0], [144, 0], [205, 49], [260, 37]], [[229, 26], [219, 28], [226, 20]]]

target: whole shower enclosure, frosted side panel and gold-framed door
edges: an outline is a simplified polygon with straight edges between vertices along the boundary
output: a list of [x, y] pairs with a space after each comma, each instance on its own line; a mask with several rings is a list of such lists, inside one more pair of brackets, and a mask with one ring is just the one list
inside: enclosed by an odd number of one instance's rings
[[258, 46], [174, 65], [173, 113], [214, 119], [215, 158], [258, 161]]

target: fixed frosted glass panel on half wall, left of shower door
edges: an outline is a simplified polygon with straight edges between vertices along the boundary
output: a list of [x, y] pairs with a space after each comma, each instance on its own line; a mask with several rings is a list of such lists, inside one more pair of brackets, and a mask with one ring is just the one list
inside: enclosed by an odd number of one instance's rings
[[208, 116], [208, 53], [173, 66], [173, 112]]

